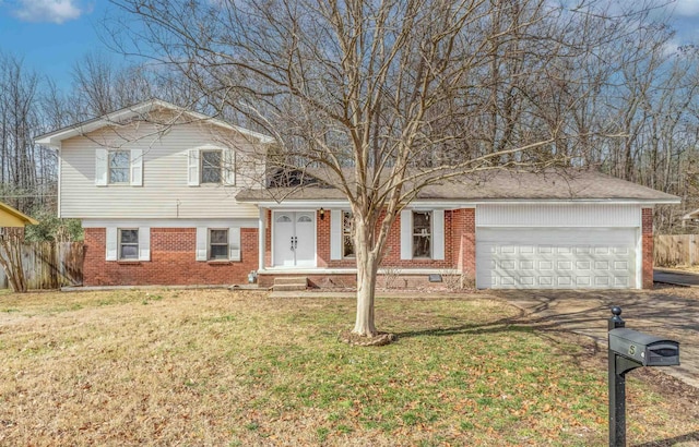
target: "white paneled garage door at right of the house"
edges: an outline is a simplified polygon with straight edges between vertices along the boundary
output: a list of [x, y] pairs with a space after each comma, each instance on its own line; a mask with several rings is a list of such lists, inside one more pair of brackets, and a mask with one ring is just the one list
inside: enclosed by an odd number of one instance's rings
[[636, 287], [633, 228], [479, 228], [481, 289]]

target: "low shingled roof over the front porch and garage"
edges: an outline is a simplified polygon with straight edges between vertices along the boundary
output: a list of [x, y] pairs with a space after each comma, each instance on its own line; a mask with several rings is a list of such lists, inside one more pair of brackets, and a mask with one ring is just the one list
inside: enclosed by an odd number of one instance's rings
[[[406, 188], [410, 188], [407, 185]], [[272, 203], [295, 201], [342, 201], [345, 196], [334, 188], [308, 185], [246, 190], [239, 202]], [[415, 202], [631, 202], [677, 204], [679, 197], [592, 170], [557, 170], [525, 172], [494, 170], [475, 172], [424, 188]]]

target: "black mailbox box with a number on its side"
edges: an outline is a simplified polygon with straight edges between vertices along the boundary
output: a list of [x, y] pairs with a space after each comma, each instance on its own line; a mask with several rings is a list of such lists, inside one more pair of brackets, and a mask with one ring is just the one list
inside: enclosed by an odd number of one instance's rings
[[624, 327], [609, 330], [609, 349], [643, 366], [679, 364], [679, 343], [677, 341]]

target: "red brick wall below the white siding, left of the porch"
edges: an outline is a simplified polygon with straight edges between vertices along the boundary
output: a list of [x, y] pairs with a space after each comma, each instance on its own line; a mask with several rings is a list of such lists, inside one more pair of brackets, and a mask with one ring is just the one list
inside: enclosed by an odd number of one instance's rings
[[258, 268], [258, 230], [240, 229], [241, 262], [196, 261], [194, 228], [151, 228], [151, 261], [105, 261], [106, 230], [85, 229], [85, 286], [246, 283]]

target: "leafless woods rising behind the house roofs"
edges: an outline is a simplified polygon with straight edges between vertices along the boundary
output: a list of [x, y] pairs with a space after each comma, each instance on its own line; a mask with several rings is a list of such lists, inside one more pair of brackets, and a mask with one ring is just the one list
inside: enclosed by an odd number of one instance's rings
[[[167, 2], [121, 3], [163, 7]], [[300, 11], [303, 3], [257, 4], [266, 4], [268, 13], [274, 16], [279, 13], [275, 8], [287, 5]], [[192, 41], [199, 41], [198, 50], [206, 44], [215, 44], [218, 49], [230, 48], [234, 39], [250, 36], [221, 33], [237, 13], [225, 8], [226, 4], [213, 2], [211, 8], [218, 10], [198, 10], [187, 16], [177, 16], [177, 11], [169, 9], [173, 16], [168, 26], [190, 29]], [[488, 158], [488, 164], [541, 159], [593, 166], [615, 177], [682, 196], [682, 209], [663, 209], [659, 214], [662, 231], [672, 231], [678, 224], [679, 214], [699, 206], [699, 52], [694, 46], [671, 46], [673, 29], [652, 3], [636, 5], [633, 11], [620, 10], [624, 4], [615, 9], [608, 2], [589, 3], [589, 11], [594, 14], [550, 8], [553, 3], [544, 1], [453, 4], [470, 8], [470, 14], [461, 25], [475, 37], [472, 41], [452, 41], [462, 47], [452, 50], [451, 68], [441, 73], [445, 78], [439, 84], [439, 98], [434, 96], [435, 104], [422, 117], [426, 123], [420, 129], [422, 136], [430, 150], [415, 152], [410, 164], [454, 165], [501, 153]], [[190, 24], [187, 21], [206, 19], [205, 14], [210, 14], [205, 21], [208, 27], [187, 27]], [[178, 17], [179, 22], [173, 20]], [[270, 27], [281, 26], [281, 21], [268, 23], [269, 29], [261, 27], [261, 23], [254, 25], [250, 26], [250, 33], [262, 29], [268, 33], [266, 38], [281, 37], [281, 33], [273, 36], [274, 29]], [[313, 33], [306, 29], [313, 26], [308, 16], [298, 16], [283, 25], [291, 27], [276, 31], [288, 32], [291, 36], [301, 36], [298, 29], [305, 29], [307, 35], [304, 37], [309, 39], [305, 43], [306, 49], [327, 51], [328, 61], [334, 61], [334, 53], [342, 51], [342, 48], [327, 44], [335, 41], [333, 36], [323, 34], [328, 33], [327, 28], [317, 26]], [[115, 37], [118, 37], [117, 33]], [[56, 155], [34, 145], [32, 138], [149, 97], [222, 113], [223, 118], [232, 118], [256, 130], [286, 133], [285, 142], [289, 145], [306, 145], [287, 150], [287, 155], [308, 155], [308, 141], [319, 137], [340, 158], [343, 153], [346, 155], [347, 135], [310, 126], [309, 123], [322, 118], [317, 113], [292, 114], [295, 121], [282, 117], [285, 108], [295, 107], [289, 97], [280, 99], [281, 96], [271, 89], [259, 95], [256, 87], [266, 84], [257, 77], [241, 77], [241, 72], [233, 70], [221, 55], [209, 52], [205, 55], [209, 59], [196, 59], [202, 53], [188, 48], [186, 40], [174, 41], [165, 34], [151, 37], [159, 37], [169, 52], [159, 53], [159, 60], [128, 67], [115, 64], [103, 55], [86, 55], [74, 65], [69, 90], [27, 69], [21, 56], [0, 57], [0, 200], [27, 213], [36, 206], [54, 206]], [[311, 39], [325, 45], [308, 47]], [[353, 44], [358, 45], [358, 41]], [[260, 53], [268, 51], [270, 58], [282, 56], [272, 55], [271, 47], [249, 49]], [[291, 47], [286, 49], [291, 51]], [[297, 70], [293, 73], [298, 82], [296, 87], [309, 94], [335, 95], [337, 89], [330, 88], [329, 83], [348, 81], [341, 70], [301, 64], [301, 60], [291, 58], [292, 53], [286, 56], [286, 62], [298, 62], [293, 65]], [[458, 59], [461, 59], [459, 64], [455, 63]], [[187, 63], [180, 65], [182, 70], [174, 71], [170, 70], [174, 60]], [[469, 63], [467, 73], [457, 70], [464, 60]], [[202, 61], [209, 62], [209, 69], [204, 69]], [[406, 59], [403, 63], [416, 64], [419, 70], [418, 60]], [[271, 67], [264, 67], [265, 75], [280, 74], [271, 72]], [[404, 83], [415, 81], [400, 77], [401, 69], [395, 67], [386, 73], [387, 77], [401, 78]], [[324, 72], [320, 72], [321, 69]], [[293, 77], [286, 76], [286, 81], [289, 78]], [[356, 87], [367, 88], [365, 85]], [[391, 98], [396, 97], [400, 88], [405, 90], [405, 86], [398, 84], [394, 89], [382, 88], [377, 94]], [[318, 100], [332, 98], [318, 96]], [[377, 123], [386, 116], [387, 108], [401, 107], [388, 100], [377, 100], [375, 106], [368, 119]], [[287, 122], [282, 123], [282, 118]], [[395, 124], [382, 122], [375, 130], [390, 133], [390, 128], [398, 129]], [[304, 130], [304, 134], [289, 136], [289, 129]], [[445, 133], [448, 138], [443, 137]], [[381, 157], [378, 141], [372, 138], [371, 159]], [[548, 141], [550, 143], [526, 154], [507, 154], [511, 148]], [[320, 153], [315, 154], [318, 155]], [[342, 162], [351, 166], [354, 161], [348, 157]]]

